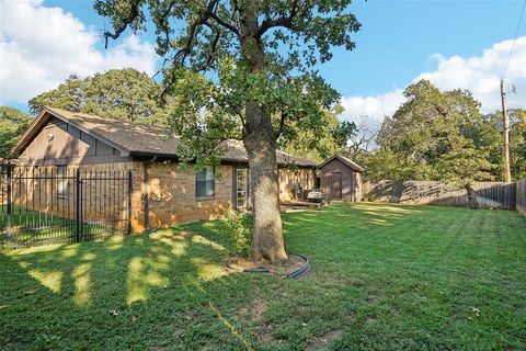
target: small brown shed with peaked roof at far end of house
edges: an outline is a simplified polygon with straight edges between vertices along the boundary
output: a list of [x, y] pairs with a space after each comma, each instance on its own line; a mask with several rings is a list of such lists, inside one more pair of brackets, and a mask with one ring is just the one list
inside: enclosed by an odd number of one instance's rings
[[334, 155], [318, 166], [320, 189], [325, 200], [362, 200], [362, 172], [364, 168], [341, 155]]

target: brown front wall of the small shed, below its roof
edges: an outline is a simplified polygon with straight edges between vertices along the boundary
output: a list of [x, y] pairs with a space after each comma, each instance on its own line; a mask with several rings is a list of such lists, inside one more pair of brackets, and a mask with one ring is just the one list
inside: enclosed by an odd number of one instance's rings
[[[362, 200], [362, 176], [338, 158], [324, 165], [321, 169], [321, 191], [327, 200], [340, 200], [331, 196], [331, 183], [336, 182], [341, 174], [341, 200]], [[334, 174], [334, 176], [333, 176]]]

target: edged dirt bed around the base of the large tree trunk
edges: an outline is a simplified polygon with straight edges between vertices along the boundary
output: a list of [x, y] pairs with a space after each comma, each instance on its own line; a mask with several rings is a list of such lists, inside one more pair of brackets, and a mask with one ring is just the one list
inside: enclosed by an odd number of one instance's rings
[[236, 256], [227, 260], [226, 267], [235, 272], [287, 275], [300, 269], [305, 263], [306, 260], [296, 254], [289, 254], [287, 260], [274, 263], [254, 262], [251, 259]]

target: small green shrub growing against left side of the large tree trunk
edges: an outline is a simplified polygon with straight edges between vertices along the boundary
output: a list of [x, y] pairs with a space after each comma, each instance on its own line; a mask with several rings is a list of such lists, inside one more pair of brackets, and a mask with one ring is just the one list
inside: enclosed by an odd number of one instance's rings
[[228, 239], [230, 253], [248, 257], [252, 241], [252, 214], [225, 211], [219, 234]]

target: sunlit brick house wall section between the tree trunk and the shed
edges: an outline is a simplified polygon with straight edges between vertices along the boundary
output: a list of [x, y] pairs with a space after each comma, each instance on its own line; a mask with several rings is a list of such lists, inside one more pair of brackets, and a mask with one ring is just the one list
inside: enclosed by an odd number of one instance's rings
[[316, 171], [312, 168], [299, 168], [297, 170], [279, 168], [279, 202], [297, 199], [297, 190], [304, 192], [315, 189]]

